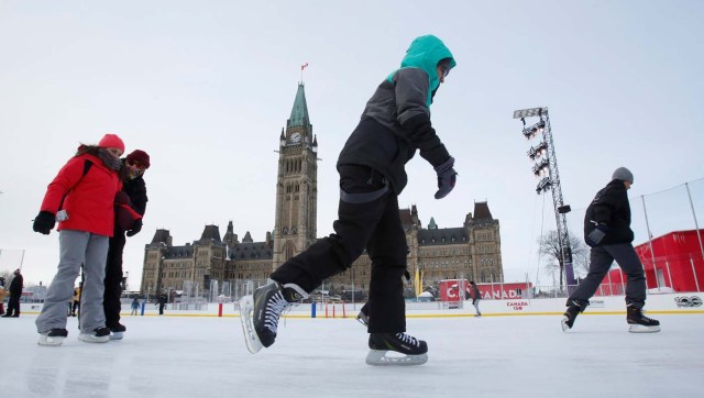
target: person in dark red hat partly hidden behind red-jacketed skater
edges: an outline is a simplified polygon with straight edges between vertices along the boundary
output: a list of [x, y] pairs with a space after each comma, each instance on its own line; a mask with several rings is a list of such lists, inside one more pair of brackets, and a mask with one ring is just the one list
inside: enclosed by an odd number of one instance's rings
[[[110, 339], [120, 340], [127, 328], [120, 323], [122, 303], [122, 253], [124, 251], [125, 231], [128, 236], [134, 236], [142, 230], [142, 219], [146, 211], [146, 184], [144, 172], [150, 168], [150, 155], [140, 150], [132, 151], [123, 162], [122, 192], [116, 200], [118, 204], [127, 204], [132, 211], [124, 211], [124, 207], [116, 206], [114, 233], [108, 246], [108, 262], [106, 264], [106, 291], [102, 307], [106, 313], [106, 327], [110, 329]], [[139, 214], [139, 215], [135, 215]], [[130, 226], [128, 226], [130, 225]]]

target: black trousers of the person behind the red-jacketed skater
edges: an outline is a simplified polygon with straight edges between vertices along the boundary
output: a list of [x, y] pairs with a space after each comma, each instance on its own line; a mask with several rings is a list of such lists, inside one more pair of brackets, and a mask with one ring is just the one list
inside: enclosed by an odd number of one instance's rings
[[106, 313], [106, 327], [113, 328], [120, 323], [120, 310], [122, 303], [122, 252], [124, 250], [124, 231], [116, 225], [114, 233], [110, 237], [108, 246], [108, 261], [106, 263], [106, 291], [102, 299], [102, 309]]

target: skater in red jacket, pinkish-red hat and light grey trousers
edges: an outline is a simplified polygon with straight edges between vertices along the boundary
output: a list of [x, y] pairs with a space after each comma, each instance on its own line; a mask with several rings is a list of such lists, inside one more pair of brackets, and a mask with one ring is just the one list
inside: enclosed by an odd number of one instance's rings
[[78, 339], [89, 343], [109, 340], [102, 281], [108, 240], [114, 228], [116, 195], [122, 188], [118, 172], [123, 152], [124, 143], [114, 134], [106, 134], [98, 145], [81, 144], [48, 185], [33, 229], [48, 235], [58, 221], [61, 254], [56, 276], [35, 321], [40, 345], [61, 345], [68, 335], [66, 302], [74, 292], [81, 265], [86, 280]]

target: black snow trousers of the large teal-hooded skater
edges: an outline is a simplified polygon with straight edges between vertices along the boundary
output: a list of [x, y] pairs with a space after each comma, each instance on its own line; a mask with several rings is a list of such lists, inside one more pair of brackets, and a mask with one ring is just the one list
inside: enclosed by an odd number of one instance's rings
[[406, 270], [406, 234], [398, 198], [385, 178], [365, 166], [346, 165], [340, 172], [340, 202], [334, 233], [289, 258], [271, 278], [293, 283], [311, 292], [326, 278], [350, 268], [364, 252], [372, 261], [370, 333], [406, 331], [402, 276]]

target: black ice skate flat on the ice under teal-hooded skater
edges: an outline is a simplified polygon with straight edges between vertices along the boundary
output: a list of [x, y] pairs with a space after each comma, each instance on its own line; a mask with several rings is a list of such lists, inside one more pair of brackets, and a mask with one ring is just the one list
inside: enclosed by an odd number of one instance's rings
[[[402, 354], [387, 355], [392, 351]], [[428, 344], [406, 333], [371, 333], [366, 364], [372, 366], [422, 365], [428, 362]]]

